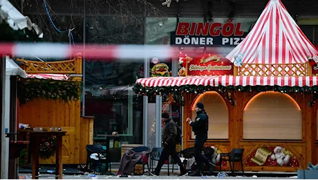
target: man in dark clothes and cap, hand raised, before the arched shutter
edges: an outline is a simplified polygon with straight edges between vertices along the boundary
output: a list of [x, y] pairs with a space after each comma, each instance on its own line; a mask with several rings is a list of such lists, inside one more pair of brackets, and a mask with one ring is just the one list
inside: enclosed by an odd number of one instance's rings
[[196, 141], [194, 142], [194, 158], [196, 159], [196, 172], [189, 174], [189, 176], [201, 176], [203, 163], [209, 168], [208, 176], [212, 176], [215, 165], [207, 159], [203, 153], [204, 143], [207, 141], [207, 131], [209, 129], [209, 116], [204, 110], [202, 102], [196, 104], [196, 118], [191, 120], [187, 118], [187, 123], [192, 127]]

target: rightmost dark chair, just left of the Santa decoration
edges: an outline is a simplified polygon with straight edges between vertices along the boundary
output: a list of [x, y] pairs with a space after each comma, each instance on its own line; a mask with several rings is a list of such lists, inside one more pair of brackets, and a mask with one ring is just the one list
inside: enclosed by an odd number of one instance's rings
[[231, 172], [232, 172], [232, 176], [234, 176], [234, 163], [235, 162], [241, 162], [242, 172], [244, 174], [243, 152], [244, 152], [244, 149], [233, 149], [229, 153], [222, 153], [221, 154], [221, 159], [220, 159], [220, 172], [221, 172], [222, 161], [229, 161]]

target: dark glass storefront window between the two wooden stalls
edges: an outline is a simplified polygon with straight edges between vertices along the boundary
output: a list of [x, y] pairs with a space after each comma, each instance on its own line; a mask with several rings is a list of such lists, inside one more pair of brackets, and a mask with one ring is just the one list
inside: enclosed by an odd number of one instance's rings
[[[122, 24], [113, 17], [86, 17], [87, 44], [142, 44], [143, 26]], [[142, 144], [143, 101], [133, 84], [144, 77], [144, 60], [86, 60], [85, 116], [95, 116], [94, 143], [104, 144], [98, 134], [118, 132], [110, 147]]]

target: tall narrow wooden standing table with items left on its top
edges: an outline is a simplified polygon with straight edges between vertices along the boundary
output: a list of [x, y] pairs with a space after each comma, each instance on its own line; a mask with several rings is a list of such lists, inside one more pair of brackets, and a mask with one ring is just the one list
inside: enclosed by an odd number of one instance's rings
[[56, 136], [55, 139], [55, 179], [63, 179], [62, 136], [66, 132], [30, 132], [32, 148], [32, 179], [39, 179], [39, 143], [43, 136]]

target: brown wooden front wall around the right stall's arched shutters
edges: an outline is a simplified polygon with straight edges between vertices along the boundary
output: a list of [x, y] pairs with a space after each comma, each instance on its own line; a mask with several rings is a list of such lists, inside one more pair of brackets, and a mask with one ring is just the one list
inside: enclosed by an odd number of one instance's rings
[[[229, 109], [229, 139], [227, 140], [208, 140], [205, 143], [206, 146], [216, 146], [223, 153], [230, 152], [233, 148], [244, 148], [243, 155], [243, 164], [245, 165], [247, 159], [251, 155], [252, 152], [255, 152], [261, 146], [269, 146], [276, 147], [282, 146], [286, 147], [288, 150], [294, 154], [297, 161], [301, 167], [298, 168], [306, 168], [308, 162], [312, 162], [313, 164], [318, 162], [318, 143], [317, 139], [317, 103], [310, 107], [308, 102], [312, 99], [311, 95], [303, 94], [303, 93], [293, 93], [290, 96], [298, 103], [299, 107], [302, 111], [302, 129], [303, 129], [303, 138], [301, 141], [247, 141], [243, 140], [243, 110], [247, 105], [247, 102], [251, 100], [253, 96], [257, 93], [249, 92], [234, 92], [232, 93], [232, 97], [236, 100], [236, 105], [230, 105], [228, 100], [227, 107]], [[185, 116], [184, 120], [187, 117], [191, 117], [191, 103], [193, 102], [196, 94], [185, 94]], [[223, 97], [224, 98], [224, 97]], [[265, 117], [264, 117], [265, 118]], [[194, 146], [194, 140], [191, 139], [191, 127], [185, 123], [185, 127], [183, 128], [184, 139], [184, 149], [187, 147]], [[241, 170], [241, 165], [235, 166], [237, 170]], [[225, 165], [222, 168], [223, 170], [230, 170], [230, 165]], [[247, 166], [245, 165], [244, 170], [253, 170], [253, 171], [282, 171], [282, 172], [294, 172], [297, 171], [297, 167], [281, 167], [281, 166]]]

